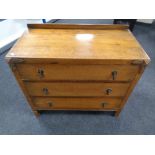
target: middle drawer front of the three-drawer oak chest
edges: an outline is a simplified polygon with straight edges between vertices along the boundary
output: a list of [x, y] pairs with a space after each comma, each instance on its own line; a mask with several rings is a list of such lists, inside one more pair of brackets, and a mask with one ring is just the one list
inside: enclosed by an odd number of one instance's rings
[[124, 96], [129, 83], [25, 82], [30, 96]]

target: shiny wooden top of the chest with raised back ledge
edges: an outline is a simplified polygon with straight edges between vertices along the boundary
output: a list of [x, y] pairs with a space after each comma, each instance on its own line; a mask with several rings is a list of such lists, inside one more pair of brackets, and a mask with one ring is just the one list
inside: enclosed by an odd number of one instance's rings
[[6, 58], [150, 61], [126, 25], [29, 24]]

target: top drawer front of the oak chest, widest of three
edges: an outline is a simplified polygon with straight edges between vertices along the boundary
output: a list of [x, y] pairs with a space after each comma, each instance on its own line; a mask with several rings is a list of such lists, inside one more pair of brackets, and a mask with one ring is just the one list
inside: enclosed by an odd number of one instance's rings
[[132, 65], [18, 64], [17, 68], [21, 78], [27, 80], [131, 81], [138, 72]]

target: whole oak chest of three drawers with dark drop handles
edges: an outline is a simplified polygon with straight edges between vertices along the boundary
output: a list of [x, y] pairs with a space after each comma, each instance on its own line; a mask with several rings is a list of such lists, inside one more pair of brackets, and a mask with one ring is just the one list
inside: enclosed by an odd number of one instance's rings
[[150, 59], [126, 25], [29, 24], [6, 55], [33, 112], [115, 111]]

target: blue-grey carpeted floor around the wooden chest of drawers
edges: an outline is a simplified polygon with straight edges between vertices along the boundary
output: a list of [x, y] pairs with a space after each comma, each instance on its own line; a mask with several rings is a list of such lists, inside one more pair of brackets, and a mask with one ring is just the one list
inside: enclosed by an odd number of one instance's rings
[[155, 28], [137, 24], [133, 33], [152, 61], [119, 118], [104, 112], [56, 111], [37, 119], [5, 63], [5, 54], [0, 56], [0, 134], [155, 134]]

